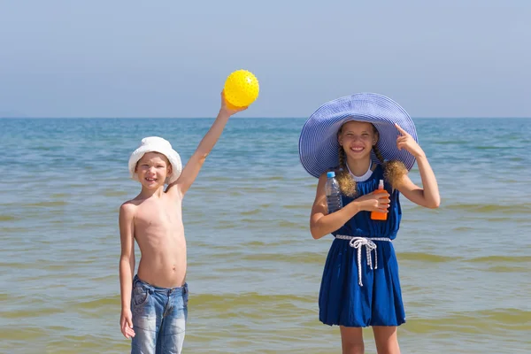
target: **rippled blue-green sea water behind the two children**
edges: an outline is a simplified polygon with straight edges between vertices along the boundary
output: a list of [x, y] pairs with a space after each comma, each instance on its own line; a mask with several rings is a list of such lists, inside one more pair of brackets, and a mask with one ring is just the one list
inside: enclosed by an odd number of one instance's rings
[[[0, 119], [0, 352], [127, 352], [117, 212], [139, 190], [127, 158], [161, 135], [187, 161], [212, 121]], [[531, 119], [414, 121], [442, 205], [402, 199], [402, 351], [530, 352]], [[332, 237], [309, 232], [303, 124], [231, 119], [190, 189], [185, 352], [340, 352], [338, 328], [318, 320]]]

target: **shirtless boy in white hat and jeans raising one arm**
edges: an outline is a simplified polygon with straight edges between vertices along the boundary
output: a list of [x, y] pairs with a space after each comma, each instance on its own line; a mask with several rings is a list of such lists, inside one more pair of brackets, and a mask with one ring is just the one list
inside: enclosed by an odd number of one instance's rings
[[[157, 136], [142, 139], [129, 159], [131, 177], [142, 184], [140, 194], [119, 209], [119, 324], [132, 338], [131, 353], [181, 353], [188, 315], [182, 198], [229, 117], [246, 108], [227, 108], [222, 92], [218, 117], [182, 171], [177, 152]], [[142, 258], [133, 277], [135, 240]]]

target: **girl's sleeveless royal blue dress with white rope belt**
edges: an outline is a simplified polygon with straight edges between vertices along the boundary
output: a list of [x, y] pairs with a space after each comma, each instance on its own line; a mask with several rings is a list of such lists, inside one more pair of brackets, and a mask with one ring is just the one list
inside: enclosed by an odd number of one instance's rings
[[[383, 180], [383, 169], [377, 165], [367, 181], [357, 182], [356, 197], [378, 189], [380, 180]], [[396, 238], [402, 217], [399, 192], [395, 189], [391, 193], [387, 183], [384, 188], [391, 200], [387, 220], [373, 220], [370, 212], [358, 212], [332, 233], [335, 240], [328, 251], [319, 290], [319, 320], [324, 324], [368, 327], [400, 326], [405, 322], [398, 264], [392, 242], [373, 241], [376, 249], [369, 253], [373, 265], [371, 269], [367, 264], [365, 245], [359, 253], [361, 258], [358, 263], [358, 250], [352, 247], [352, 242], [337, 238], [338, 235]], [[349, 204], [353, 199], [343, 195], [342, 203]], [[359, 270], [361, 279], [358, 277]]]

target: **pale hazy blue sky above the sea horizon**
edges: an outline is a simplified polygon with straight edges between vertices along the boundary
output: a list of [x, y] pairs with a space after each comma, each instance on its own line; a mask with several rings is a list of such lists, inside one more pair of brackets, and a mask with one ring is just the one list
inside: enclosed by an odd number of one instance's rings
[[0, 117], [308, 117], [357, 92], [412, 117], [531, 117], [531, 1], [0, 0]]

